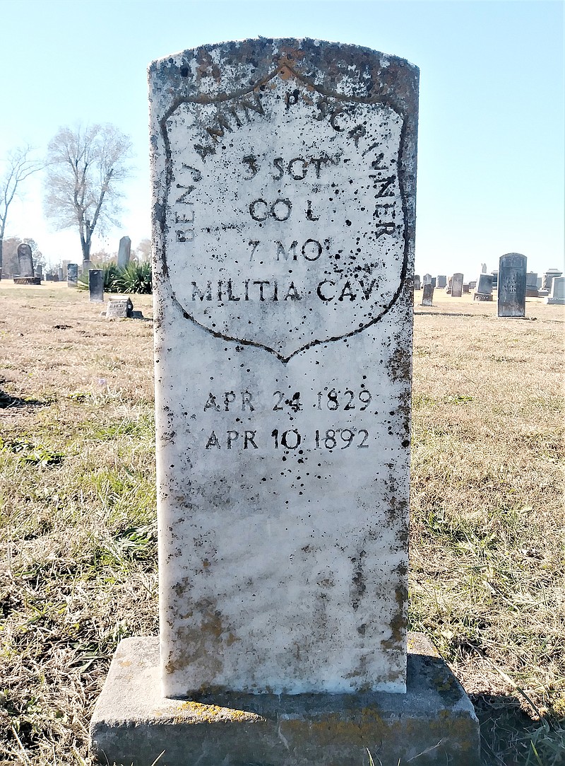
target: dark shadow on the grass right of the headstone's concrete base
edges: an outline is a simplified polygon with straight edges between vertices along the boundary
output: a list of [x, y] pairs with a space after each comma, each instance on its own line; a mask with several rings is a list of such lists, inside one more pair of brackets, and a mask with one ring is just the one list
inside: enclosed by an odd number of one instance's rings
[[516, 697], [469, 695], [481, 725], [484, 766], [562, 766], [565, 719], [531, 719]]

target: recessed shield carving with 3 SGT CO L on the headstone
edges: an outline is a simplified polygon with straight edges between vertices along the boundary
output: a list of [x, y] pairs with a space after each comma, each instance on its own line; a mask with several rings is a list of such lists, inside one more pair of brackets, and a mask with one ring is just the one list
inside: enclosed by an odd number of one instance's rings
[[176, 103], [164, 271], [184, 313], [286, 362], [361, 332], [404, 278], [403, 116], [278, 66], [245, 93]]

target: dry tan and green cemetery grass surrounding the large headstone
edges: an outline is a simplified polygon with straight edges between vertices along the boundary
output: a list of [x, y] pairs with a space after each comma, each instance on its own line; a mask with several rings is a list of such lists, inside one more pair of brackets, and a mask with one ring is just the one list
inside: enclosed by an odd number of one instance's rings
[[[90, 764], [116, 644], [158, 630], [151, 296], [132, 300], [144, 319], [108, 321], [63, 283], [0, 282], [0, 764]], [[485, 764], [557, 766], [565, 309], [420, 300], [411, 629], [469, 692]]]

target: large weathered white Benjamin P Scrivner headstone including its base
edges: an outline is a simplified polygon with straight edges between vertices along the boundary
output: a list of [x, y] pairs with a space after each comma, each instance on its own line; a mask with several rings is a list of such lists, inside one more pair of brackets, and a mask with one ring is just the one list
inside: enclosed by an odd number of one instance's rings
[[142, 709], [135, 687], [154, 641], [121, 644], [93, 749], [306, 766], [378, 739], [381, 758], [478, 764], [445, 666], [407, 692], [417, 70], [241, 41], [154, 62], [150, 99], [168, 699]]

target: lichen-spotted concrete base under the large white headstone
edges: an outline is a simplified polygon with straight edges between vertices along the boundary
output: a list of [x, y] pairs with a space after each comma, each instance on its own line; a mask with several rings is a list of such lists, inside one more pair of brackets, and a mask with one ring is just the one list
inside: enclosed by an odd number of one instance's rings
[[163, 699], [156, 637], [115, 652], [90, 725], [93, 756], [120, 766], [479, 766], [479, 722], [421, 633], [408, 692]]

